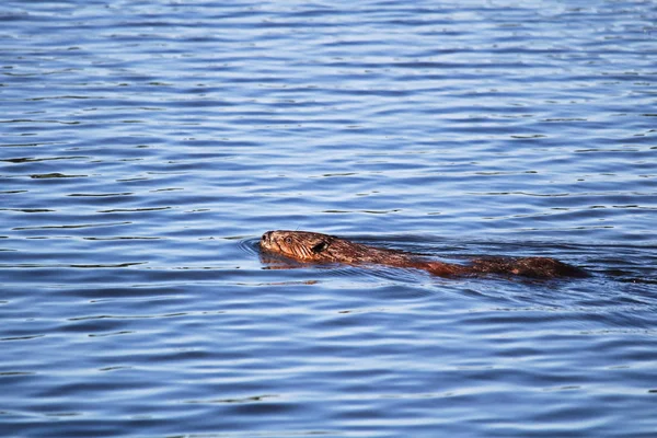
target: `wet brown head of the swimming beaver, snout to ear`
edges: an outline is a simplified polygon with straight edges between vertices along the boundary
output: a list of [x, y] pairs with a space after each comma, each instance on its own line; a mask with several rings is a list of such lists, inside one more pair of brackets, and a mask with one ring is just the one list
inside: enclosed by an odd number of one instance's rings
[[336, 239], [309, 231], [267, 231], [261, 239], [261, 249], [299, 262], [324, 262], [330, 258], [326, 249]]

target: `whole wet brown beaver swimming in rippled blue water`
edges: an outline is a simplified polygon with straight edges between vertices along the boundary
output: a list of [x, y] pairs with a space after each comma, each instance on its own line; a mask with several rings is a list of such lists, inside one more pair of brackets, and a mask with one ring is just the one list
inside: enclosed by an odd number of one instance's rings
[[440, 277], [485, 274], [531, 278], [586, 277], [583, 269], [550, 257], [486, 256], [468, 265], [427, 261], [419, 254], [355, 243], [335, 235], [310, 231], [267, 231], [261, 249], [302, 263], [344, 263], [348, 265], [387, 265], [423, 269]]

